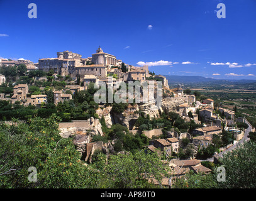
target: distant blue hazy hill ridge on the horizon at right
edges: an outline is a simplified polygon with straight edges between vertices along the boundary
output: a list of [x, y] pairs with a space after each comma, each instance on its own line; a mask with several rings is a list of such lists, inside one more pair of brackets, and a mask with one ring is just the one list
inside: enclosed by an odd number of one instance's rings
[[197, 82], [222, 82], [230, 83], [230, 82], [239, 82], [239, 83], [253, 83], [256, 82], [256, 80], [217, 80], [212, 78], [206, 78], [202, 76], [180, 76], [180, 75], [164, 75], [169, 84], [175, 84], [175, 83], [197, 83]]

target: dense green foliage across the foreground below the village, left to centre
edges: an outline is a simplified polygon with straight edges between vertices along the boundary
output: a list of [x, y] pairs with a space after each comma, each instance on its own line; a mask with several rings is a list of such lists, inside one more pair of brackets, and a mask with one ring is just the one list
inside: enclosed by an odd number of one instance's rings
[[[58, 134], [59, 121], [53, 115], [1, 124], [1, 188], [146, 188], [152, 187], [149, 178], [160, 181], [166, 173], [158, 156], [143, 150], [112, 155], [108, 163], [100, 153], [94, 163], [84, 165], [72, 138]], [[34, 182], [28, 180], [35, 173], [30, 167], [36, 168]]]

